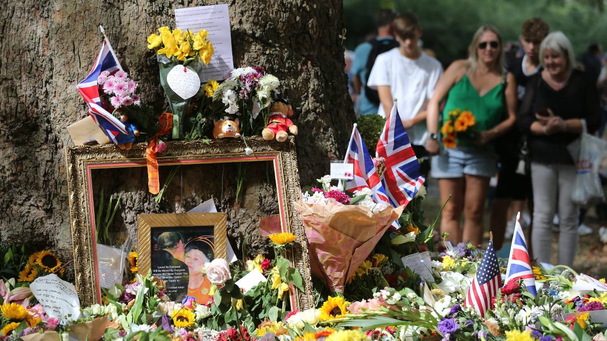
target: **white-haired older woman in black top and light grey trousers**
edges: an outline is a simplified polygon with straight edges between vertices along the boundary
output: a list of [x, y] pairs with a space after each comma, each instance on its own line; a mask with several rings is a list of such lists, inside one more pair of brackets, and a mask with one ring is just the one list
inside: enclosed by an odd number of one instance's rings
[[517, 126], [529, 134], [533, 187], [534, 256], [551, 263], [552, 218], [558, 212], [558, 264], [572, 266], [577, 250], [578, 207], [571, 200], [575, 164], [567, 145], [584, 129], [599, 129], [599, 95], [585, 72], [575, 69], [575, 54], [563, 32], [540, 44], [544, 70], [527, 83]]

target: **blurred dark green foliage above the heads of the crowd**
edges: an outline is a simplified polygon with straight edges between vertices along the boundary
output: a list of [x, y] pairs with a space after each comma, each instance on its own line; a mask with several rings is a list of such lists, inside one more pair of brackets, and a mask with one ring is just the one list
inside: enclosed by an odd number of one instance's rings
[[380, 8], [411, 11], [424, 30], [424, 48], [433, 50], [441, 61], [466, 58], [467, 46], [476, 29], [493, 24], [505, 41], [517, 41], [526, 19], [538, 16], [552, 31], [563, 31], [577, 55], [592, 42], [605, 46], [607, 13], [602, 1], [475, 1], [475, 0], [344, 0], [345, 46], [354, 49], [369, 33], [376, 33], [375, 16]]

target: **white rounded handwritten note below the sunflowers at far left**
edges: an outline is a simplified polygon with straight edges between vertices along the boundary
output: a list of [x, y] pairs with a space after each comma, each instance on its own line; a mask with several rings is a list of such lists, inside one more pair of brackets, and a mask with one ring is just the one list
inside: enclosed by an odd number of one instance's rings
[[59, 320], [67, 316], [72, 320], [80, 318], [80, 300], [72, 283], [50, 274], [38, 277], [30, 289], [49, 317]]

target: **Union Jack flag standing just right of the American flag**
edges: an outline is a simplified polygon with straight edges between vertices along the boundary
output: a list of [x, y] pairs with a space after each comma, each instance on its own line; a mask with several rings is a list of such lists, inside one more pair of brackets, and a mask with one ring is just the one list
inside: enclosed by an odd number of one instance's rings
[[535, 289], [535, 275], [529, 262], [529, 252], [523, 229], [521, 229], [521, 212], [517, 214], [517, 222], [514, 226], [514, 235], [512, 236], [512, 246], [510, 246], [510, 258], [508, 259], [508, 268], [506, 270], [506, 283], [511, 280], [522, 279], [527, 290], [534, 296], [537, 295]]

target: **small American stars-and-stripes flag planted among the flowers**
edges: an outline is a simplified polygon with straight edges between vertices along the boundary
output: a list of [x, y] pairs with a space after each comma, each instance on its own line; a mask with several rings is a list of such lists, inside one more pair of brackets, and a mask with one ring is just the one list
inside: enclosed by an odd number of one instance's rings
[[491, 299], [497, 295], [497, 289], [500, 288], [500, 266], [495, 257], [493, 249], [493, 240], [489, 240], [489, 246], [485, 250], [483, 260], [476, 270], [476, 275], [472, 285], [468, 288], [464, 306], [473, 308], [482, 317], [490, 308]]

